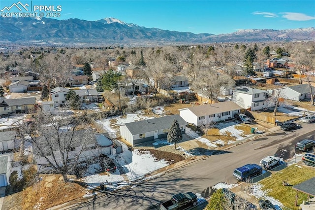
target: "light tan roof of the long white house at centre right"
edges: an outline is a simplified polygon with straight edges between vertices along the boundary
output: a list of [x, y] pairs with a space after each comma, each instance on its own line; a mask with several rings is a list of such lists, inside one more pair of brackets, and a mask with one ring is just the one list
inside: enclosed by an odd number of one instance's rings
[[[189, 107], [189, 109], [193, 114], [195, 114], [197, 117], [210, 115], [210, 114], [217, 114], [225, 111], [231, 111], [231, 110], [237, 110], [241, 109], [242, 107], [234, 103], [233, 101], [227, 101], [227, 102], [220, 102], [210, 105], [198, 105]], [[184, 109], [180, 109], [184, 110]]]

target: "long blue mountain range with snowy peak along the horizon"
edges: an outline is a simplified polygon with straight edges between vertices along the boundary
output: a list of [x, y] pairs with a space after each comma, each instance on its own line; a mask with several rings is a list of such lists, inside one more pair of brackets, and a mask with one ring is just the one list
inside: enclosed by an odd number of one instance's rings
[[115, 18], [80, 19], [0, 17], [0, 41], [47, 45], [153, 45], [213, 42], [314, 40], [315, 28], [250, 29], [231, 34], [193, 34], [128, 24]]

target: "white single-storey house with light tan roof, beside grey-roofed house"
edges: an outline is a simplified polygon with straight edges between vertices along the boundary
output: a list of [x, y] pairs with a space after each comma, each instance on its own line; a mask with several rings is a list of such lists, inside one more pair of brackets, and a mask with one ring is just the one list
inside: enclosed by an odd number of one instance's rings
[[198, 105], [178, 109], [180, 116], [188, 123], [200, 126], [209, 122], [218, 122], [234, 118], [234, 114], [240, 112], [242, 107], [233, 101], [220, 102], [209, 105]]

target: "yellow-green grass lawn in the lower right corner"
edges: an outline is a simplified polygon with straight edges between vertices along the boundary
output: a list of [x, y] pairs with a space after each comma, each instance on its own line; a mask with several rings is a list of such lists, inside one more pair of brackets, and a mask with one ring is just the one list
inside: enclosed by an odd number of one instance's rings
[[[261, 180], [259, 183], [263, 185], [262, 190], [268, 192], [268, 196], [279, 200], [285, 207], [291, 210], [298, 210], [298, 207], [294, 205], [296, 190], [293, 190], [291, 186], [283, 186], [282, 182], [285, 180], [290, 183], [290, 185], [294, 186], [314, 176], [315, 168], [294, 164]], [[298, 196], [298, 205], [301, 204], [303, 200], [308, 200], [307, 194], [299, 192]]]

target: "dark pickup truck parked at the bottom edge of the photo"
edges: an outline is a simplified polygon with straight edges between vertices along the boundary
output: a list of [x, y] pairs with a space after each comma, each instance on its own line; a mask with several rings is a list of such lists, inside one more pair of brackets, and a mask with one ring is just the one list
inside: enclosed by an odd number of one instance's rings
[[197, 196], [192, 192], [178, 193], [171, 200], [161, 203], [161, 210], [184, 210], [190, 206], [196, 206]]

